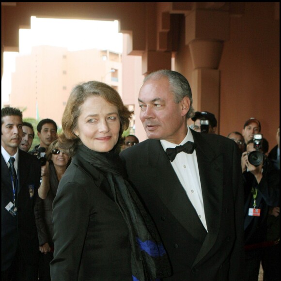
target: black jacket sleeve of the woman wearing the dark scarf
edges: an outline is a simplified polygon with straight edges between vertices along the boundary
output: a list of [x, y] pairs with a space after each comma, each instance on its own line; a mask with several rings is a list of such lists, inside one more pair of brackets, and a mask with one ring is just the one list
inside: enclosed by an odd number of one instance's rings
[[90, 204], [85, 188], [75, 182], [59, 185], [53, 202], [55, 244], [50, 263], [52, 281], [78, 280], [78, 269], [89, 224]]

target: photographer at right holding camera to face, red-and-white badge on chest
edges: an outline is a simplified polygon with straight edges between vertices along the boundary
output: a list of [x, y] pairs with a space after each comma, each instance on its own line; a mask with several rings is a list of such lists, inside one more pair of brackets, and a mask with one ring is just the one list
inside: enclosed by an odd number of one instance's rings
[[[260, 138], [258, 138], [260, 137]], [[279, 200], [279, 174], [265, 154], [268, 142], [254, 135], [242, 154], [244, 184], [245, 280], [258, 280], [260, 263], [267, 246], [267, 213]]]

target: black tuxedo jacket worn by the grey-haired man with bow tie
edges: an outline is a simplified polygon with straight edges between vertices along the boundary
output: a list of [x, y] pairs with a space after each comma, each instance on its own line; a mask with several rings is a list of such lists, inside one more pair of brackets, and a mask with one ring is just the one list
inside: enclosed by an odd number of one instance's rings
[[208, 233], [190, 203], [160, 141], [121, 152], [129, 180], [153, 217], [172, 263], [171, 281], [237, 281], [242, 276], [242, 172], [237, 145], [191, 130]]

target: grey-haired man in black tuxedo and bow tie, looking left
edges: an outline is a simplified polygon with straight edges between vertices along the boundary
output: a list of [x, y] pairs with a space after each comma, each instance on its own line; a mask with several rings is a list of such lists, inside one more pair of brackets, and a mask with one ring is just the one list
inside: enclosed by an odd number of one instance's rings
[[242, 279], [243, 188], [238, 147], [187, 127], [187, 79], [148, 75], [139, 93], [148, 140], [121, 152], [128, 178], [150, 211], [169, 255], [169, 281]]

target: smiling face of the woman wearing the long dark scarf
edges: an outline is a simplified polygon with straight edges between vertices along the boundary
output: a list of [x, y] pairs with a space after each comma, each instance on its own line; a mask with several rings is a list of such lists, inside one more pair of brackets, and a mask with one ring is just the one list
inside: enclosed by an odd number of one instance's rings
[[88, 97], [80, 108], [74, 133], [84, 145], [97, 152], [109, 152], [118, 141], [120, 120], [117, 107], [98, 95]]

